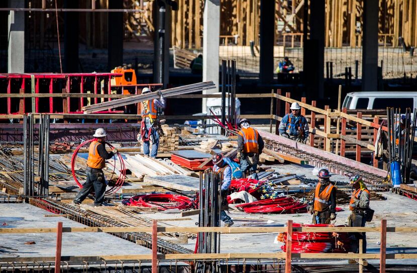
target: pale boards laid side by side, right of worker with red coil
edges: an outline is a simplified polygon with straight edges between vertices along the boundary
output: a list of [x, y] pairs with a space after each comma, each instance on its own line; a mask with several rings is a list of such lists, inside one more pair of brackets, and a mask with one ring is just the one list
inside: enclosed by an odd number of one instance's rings
[[[108, 160], [111, 164], [112, 159]], [[117, 164], [117, 163], [116, 163]], [[191, 171], [186, 170], [173, 163], [170, 159], [152, 158], [141, 154], [126, 155], [126, 169], [132, 172], [132, 175], [142, 179], [144, 176], [181, 174], [191, 175]], [[110, 167], [113, 170], [113, 167]]]

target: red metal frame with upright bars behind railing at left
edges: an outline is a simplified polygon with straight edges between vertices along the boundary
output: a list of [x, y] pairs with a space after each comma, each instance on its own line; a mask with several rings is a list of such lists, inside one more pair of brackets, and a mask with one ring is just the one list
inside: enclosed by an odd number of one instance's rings
[[[94, 94], [99, 94], [98, 92], [98, 84], [99, 81], [104, 79], [107, 80], [107, 86], [108, 86], [108, 94], [111, 94], [112, 92], [112, 88], [117, 88], [117, 87], [123, 87], [126, 85], [111, 85], [111, 79], [112, 77], [120, 77], [123, 74], [121, 73], [32, 73], [32, 74], [20, 74], [20, 73], [4, 73], [4, 74], [0, 74], [0, 81], [1, 80], [7, 80], [7, 94], [12, 94], [12, 93], [16, 93], [16, 91], [13, 91], [13, 86], [15, 85], [16, 80], [21, 80], [21, 88], [20, 89], [24, 89], [23, 94], [30, 94], [32, 92], [31, 88], [26, 88], [26, 79], [31, 79], [31, 75], [34, 75], [35, 78], [35, 93], [39, 94], [41, 93], [41, 84], [40, 84], [40, 79], [49, 79], [49, 94], [53, 94], [53, 93], [58, 93], [54, 92], [54, 83], [61, 80], [63, 82], [63, 85], [65, 85], [65, 88], [67, 90], [67, 93], [81, 93], [84, 94], [85, 93], [85, 81], [87, 78], [91, 78], [93, 77], [93, 89], [94, 89]], [[73, 77], [77, 77], [80, 78], [80, 82], [79, 82], [79, 86], [78, 88], [73, 88], [72, 92], [71, 92], [71, 87], [74, 87], [73, 85], [71, 85], [71, 80], [73, 79]], [[42, 86], [44, 86], [42, 84]], [[160, 83], [146, 83], [146, 84], [135, 84], [135, 85], [129, 85], [129, 86], [135, 86], [135, 94], [138, 94], [138, 87], [151, 87], [151, 86], [161, 86]], [[22, 93], [21, 90], [19, 89], [19, 93]], [[123, 88], [122, 88], [123, 89]], [[123, 92], [123, 91], [122, 91]], [[0, 93], [3, 93], [2, 90], [0, 90]], [[61, 93], [61, 92], [59, 92]], [[23, 114], [26, 113], [26, 109], [25, 109], [25, 99], [26, 98], [21, 98], [20, 100], [20, 105], [19, 105], [19, 114]], [[35, 113], [40, 113], [40, 98], [37, 97], [35, 98]], [[7, 98], [7, 114], [17, 114], [16, 111], [14, 111], [15, 113], [12, 113], [12, 102], [15, 99], [12, 100], [12, 98]], [[29, 100], [31, 100], [29, 98]], [[71, 111], [71, 101], [74, 102], [74, 100], [78, 100], [78, 111]], [[108, 99], [109, 101], [111, 101], [111, 99]], [[65, 104], [66, 109], [68, 110], [67, 112], [70, 114], [82, 114], [83, 112], [81, 111], [82, 107], [84, 106], [85, 102], [83, 98], [77, 98], [77, 99], [71, 99], [71, 98], [63, 98], [62, 102]], [[98, 98], [94, 98], [93, 103], [97, 104], [99, 102]], [[59, 105], [61, 105], [61, 103], [59, 103]], [[30, 109], [29, 112], [32, 112], [33, 110]], [[49, 113], [63, 113], [61, 111], [57, 111], [56, 106], [54, 105], [54, 99], [52, 97], [49, 98]], [[109, 110], [109, 111], [102, 111], [102, 112], [97, 112], [97, 113], [123, 113], [123, 111], [116, 111], [116, 110]]]

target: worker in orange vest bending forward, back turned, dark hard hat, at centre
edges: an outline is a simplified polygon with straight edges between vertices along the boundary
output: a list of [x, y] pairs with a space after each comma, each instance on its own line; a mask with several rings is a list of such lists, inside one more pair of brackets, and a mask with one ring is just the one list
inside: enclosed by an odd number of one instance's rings
[[256, 170], [259, 155], [264, 148], [264, 142], [259, 132], [251, 127], [249, 120], [242, 119], [239, 126], [241, 130], [238, 133], [238, 153], [236, 157], [240, 160], [240, 169], [243, 173], [249, 171], [252, 178], [258, 179]]

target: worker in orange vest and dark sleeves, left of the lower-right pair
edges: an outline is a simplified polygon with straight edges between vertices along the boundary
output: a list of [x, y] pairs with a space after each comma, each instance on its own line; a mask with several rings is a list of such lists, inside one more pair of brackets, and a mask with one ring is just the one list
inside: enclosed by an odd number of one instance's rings
[[321, 169], [317, 176], [319, 176], [319, 183], [314, 195], [312, 223], [330, 224], [331, 220], [336, 219], [336, 188], [330, 183], [329, 170]]

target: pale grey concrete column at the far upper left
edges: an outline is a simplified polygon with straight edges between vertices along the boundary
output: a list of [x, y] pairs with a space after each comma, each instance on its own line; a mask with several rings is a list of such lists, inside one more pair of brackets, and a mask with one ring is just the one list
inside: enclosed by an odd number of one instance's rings
[[[25, 8], [25, 1], [9, 0], [9, 8]], [[25, 12], [9, 12], [8, 20], [8, 65], [9, 73], [25, 72]]]

